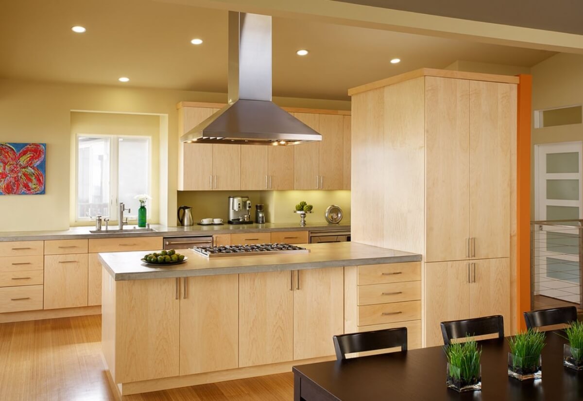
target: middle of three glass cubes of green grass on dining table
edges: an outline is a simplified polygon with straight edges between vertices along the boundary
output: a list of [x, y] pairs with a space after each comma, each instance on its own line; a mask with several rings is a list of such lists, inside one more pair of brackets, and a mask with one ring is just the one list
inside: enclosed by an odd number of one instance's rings
[[508, 340], [508, 376], [518, 380], [540, 379], [542, 358], [545, 347], [545, 333], [529, 329]]

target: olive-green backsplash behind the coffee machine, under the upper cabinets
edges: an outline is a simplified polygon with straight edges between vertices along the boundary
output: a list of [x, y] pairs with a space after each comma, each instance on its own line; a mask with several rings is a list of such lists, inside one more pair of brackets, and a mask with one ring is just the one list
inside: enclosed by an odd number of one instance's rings
[[178, 191], [178, 206], [191, 206], [192, 217], [197, 222], [213, 217], [226, 223], [228, 198], [231, 195], [249, 196], [252, 220], [255, 219], [255, 205], [264, 203], [268, 223], [300, 221], [300, 216], [293, 210], [297, 203], [305, 200], [314, 206], [313, 213], [306, 217], [308, 221], [325, 222], [324, 212], [332, 204], [342, 208], [343, 221], [350, 221], [350, 191]]

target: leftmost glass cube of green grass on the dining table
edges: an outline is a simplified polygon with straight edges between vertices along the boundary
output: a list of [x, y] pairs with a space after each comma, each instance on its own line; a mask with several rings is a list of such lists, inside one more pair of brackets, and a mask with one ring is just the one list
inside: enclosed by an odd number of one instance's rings
[[444, 347], [447, 356], [447, 386], [458, 392], [482, 389], [482, 350], [475, 340]]

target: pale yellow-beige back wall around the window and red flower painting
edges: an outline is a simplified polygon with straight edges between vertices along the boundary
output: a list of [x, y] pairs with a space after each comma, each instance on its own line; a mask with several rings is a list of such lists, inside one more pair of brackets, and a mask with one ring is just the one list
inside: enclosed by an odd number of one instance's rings
[[[72, 110], [160, 116], [160, 191], [152, 196], [159, 198], [160, 223], [173, 224], [177, 205], [179, 101], [224, 102], [226, 95], [0, 79], [0, 142], [47, 143], [46, 194], [0, 196], [0, 231], [69, 227]], [[274, 101], [290, 107], [350, 110], [348, 101], [289, 98]]]

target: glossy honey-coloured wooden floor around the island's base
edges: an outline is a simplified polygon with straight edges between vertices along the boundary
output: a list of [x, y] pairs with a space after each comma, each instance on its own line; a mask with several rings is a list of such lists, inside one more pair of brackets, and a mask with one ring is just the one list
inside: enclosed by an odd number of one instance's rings
[[[101, 361], [101, 316], [0, 324], [0, 400], [113, 401]], [[291, 401], [293, 375], [124, 397], [124, 401]]]

